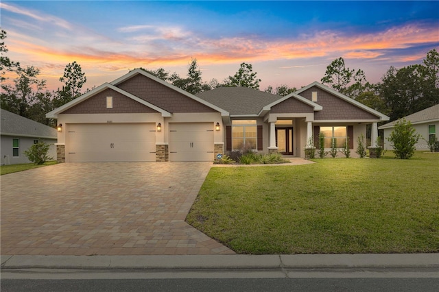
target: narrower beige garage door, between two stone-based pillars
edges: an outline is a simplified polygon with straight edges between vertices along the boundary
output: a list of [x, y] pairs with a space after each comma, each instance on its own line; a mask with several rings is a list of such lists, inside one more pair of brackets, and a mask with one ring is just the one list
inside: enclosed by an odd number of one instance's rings
[[213, 123], [169, 123], [170, 161], [212, 161]]

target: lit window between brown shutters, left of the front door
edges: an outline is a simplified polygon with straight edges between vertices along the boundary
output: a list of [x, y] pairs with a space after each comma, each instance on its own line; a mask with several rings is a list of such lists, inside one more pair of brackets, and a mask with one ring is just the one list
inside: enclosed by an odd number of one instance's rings
[[257, 149], [256, 120], [232, 121], [232, 149]]

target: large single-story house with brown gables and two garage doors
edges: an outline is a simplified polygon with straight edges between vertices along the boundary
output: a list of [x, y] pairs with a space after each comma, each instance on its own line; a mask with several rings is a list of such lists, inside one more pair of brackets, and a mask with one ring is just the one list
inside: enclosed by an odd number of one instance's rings
[[320, 132], [366, 136], [385, 115], [314, 82], [280, 97], [242, 87], [191, 95], [136, 69], [47, 114], [58, 119], [59, 162], [212, 161], [235, 149], [304, 157]]

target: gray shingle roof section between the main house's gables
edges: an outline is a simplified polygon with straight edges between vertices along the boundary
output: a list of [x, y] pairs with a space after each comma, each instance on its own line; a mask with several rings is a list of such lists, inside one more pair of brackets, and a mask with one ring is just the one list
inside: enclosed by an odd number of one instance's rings
[[282, 98], [248, 87], [218, 87], [199, 93], [197, 97], [230, 114], [258, 114], [264, 106]]

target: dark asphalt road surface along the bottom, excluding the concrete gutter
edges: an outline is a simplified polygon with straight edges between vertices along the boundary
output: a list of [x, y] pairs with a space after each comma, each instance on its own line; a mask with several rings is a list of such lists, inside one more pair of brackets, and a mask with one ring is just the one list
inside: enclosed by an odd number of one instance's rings
[[438, 278], [1, 280], [19, 291], [438, 291]]

